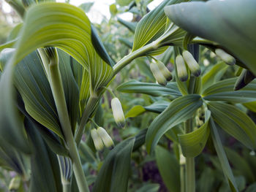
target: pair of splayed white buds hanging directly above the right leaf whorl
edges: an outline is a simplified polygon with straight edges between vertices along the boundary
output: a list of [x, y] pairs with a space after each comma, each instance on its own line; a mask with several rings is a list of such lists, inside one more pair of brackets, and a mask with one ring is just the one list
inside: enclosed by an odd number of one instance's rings
[[195, 61], [193, 55], [189, 53], [189, 51], [184, 50], [182, 55], [176, 56], [176, 68], [179, 80], [187, 81], [187, 67], [195, 77], [198, 77], [201, 74], [200, 66], [197, 64], [197, 61]]

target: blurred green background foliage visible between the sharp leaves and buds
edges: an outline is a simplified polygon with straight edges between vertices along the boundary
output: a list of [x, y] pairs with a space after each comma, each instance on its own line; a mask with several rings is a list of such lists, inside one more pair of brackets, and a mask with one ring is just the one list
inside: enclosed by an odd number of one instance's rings
[[[94, 23], [97, 28], [99, 37], [108, 50], [110, 57], [113, 61], [119, 61], [132, 50], [132, 41], [135, 32], [135, 26], [138, 21], [146, 15], [149, 11], [147, 5], [151, 0], [116, 0], [115, 4], [111, 4], [109, 9], [111, 13], [110, 20], [106, 18], [101, 23]], [[91, 4], [82, 4], [80, 6], [85, 12], [89, 12]], [[132, 13], [132, 20], [122, 20], [118, 17], [124, 12]], [[3, 2], [0, 1], [0, 43], [4, 43], [10, 34], [10, 30], [20, 22], [18, 15], [14, 11], [4, 12]], [[173, 70], [173, 50], [167, 50], [162, 55], [157, 56], [168, 67]], [[219, 62], [219, 58], [208, 50], [206, 47], [200, 47], [200, 67], [202, 74], [206, 74], [213, 66]], [[156, 110], [141, 110], [140, 114], [135, 113], [132, 107], [138, 106], [146, 107], [154, 104], [156, 101], [165, 101], [170, 103], [172, 98], [166, 95], [159, 94], [158, 96], [151, 96], [141, 93], [122, 93], [116, 89], [118, 85], [129, 80], [138, 80], [140, 82], [154, 83], [154, 76], [149, 69], [150, 59], [137, 58], [132, 61], [132, 64], [126, 66], [124, 70], [116, 75], [116, 79], [111, 83], [110, 88], [120, 99], [124, 114], [127, 117], [127, 125], [125, 128], [120, 129], [116, 126], [113, 120], [112, 110], [110, 108], [110, 101], [112, 96], [110, 93], [105, 93], [102, 98], [101, 105], [97, 110], [94, 117], [95, 122], [108, 131], [110, 137], [113, 138], [115, 144], [121, 142], [128, 137], [134, 137], [140, 131], [148, 128], [152, 120], [159, 114]], [[229, 77], [236, 77], [237, 66], [225, 66], [222, 71], [221, 79]], [[252, 120], [256, 121], [256, 113], [247, 110], [243, 105], [238, 104], [241, 110], [249, 114]], [[150, 107], [149, 107], [150, 108]], [[138, 111], [138, 110], [136, 110]], [[154, 112], [152, 112], [154, 111]], [[94, 126], [94, 125], [87, 125]], [[176, 128], [178, 130], [178, 128]], [[89, 130], [87, 128], [86, 130]], [[249, 151], [237, 142], [233, 137], [225, 134], [224, 131], [219, 129], [222, 143], [226, 146], [227, 158], [233, 168], [233, 173], [238, 183], [240, 191], [253, 192], [256, 191], [256, 157], [253, 151]], [[178, 134], [178, 131], [176, 132]], [[129, 175], [129, 191], [138, 192], [154, 192], [154, 191], [170, 191], [172, 183], [166, 181], [176, 181], [177, 174], [179, 174], [179, 156], [177, 155], [178, 145], [173, 139], [173, 132], [167, 132], [165, 137], [159, 141], [157, 152], [148, 155], [146, 147], [140, 147], [132, 153], [132, 170]], [[83, 143], [80, 147], [80, 158], [83, 163], [83, 169], [88, 176], [89, 185], [94, 183], [96, 175], [102, 166], [103, 160], [110, 153], [110, 150], [105, 149], [102, 152], [96, 153], [91, 137], [89, 139], [83, 138]], [[165, 157], [165, 158], [163, 158]], [[208, 139], [205, 150], [203, 153], [195, 158], [196, 163], [196, 180], [198, 192], [227, 192], [229, 191], [227, 182], [222, 174], [222, 168], [216, 156], [213, 143]], [[162, 165], [170, 167], [167, 170], [173, 172], [165, 172]], [[176, 172], [178, 170], [178, 172]], [[176, 174], [174, 174], [176, 173]], [[0, 191], [8, 191], [8, 186], [11, 180], [15, 178], [15, 172], [0, 168]], [[92, 185], [91, 185], [92, 188]], [[15, 191], [26, 191], [26, 183], [20, 184], [20, 188]]]

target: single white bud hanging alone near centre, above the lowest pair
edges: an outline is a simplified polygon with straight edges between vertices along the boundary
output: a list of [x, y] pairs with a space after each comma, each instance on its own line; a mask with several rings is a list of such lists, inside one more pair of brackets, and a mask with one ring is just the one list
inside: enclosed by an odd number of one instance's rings
[[124, 112], [118, 98], [115, 97], [111, 100], [111, 108], [112, 108], [113, 117], [116, 121], [116, 124], [121, 128], [124, 127], [125, 125]]

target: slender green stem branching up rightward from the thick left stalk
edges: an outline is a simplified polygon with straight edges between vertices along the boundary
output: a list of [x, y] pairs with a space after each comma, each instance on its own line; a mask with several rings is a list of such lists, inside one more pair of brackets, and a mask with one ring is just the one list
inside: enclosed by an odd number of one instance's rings
[[94, 110], [95, 104], [97, 104], [98, 100], [99, 100], [98, 96], [90, 96], [89, 101], [86, 104], [86, 108], [83, 110], [83, 115], [80, 121], [80, 125], [75, 135], [75, 142], [77, 143], [77, 145], [79, 145], [80, 140], [82, 139], [83, 131], [86, 126], [86, 123], [91, 115], [91, 112]]

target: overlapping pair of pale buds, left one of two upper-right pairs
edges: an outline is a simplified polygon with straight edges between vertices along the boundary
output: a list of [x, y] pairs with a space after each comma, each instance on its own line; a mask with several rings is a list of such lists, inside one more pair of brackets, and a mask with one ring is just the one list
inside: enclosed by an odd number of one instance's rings
[[166, 85], [167, 81], [170, 81], [173, 78], [170, 71], [161, 61], [151, 62], [149, 66], [154, 78], [160, 85]]

